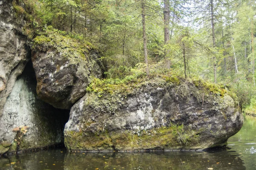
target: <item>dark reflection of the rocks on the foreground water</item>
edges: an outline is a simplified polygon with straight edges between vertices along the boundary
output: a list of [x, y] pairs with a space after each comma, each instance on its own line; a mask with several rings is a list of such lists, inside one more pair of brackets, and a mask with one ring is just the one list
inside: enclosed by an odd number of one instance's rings
[[[48, 150], [1, 159], [3, 170], [245, 170], [238, 153], [210, 152], [67, 153]], [[12, 164], [12, 162], [16, 162]]]

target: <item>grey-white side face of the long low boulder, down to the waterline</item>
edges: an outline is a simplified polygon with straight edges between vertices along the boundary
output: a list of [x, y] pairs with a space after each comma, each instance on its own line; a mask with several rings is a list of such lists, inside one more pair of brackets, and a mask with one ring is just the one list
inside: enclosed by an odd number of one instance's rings
[[240, 109], [227, 93], [205, 94], [202, 104], [177, 89], [148, 82], [128, 96], [86, 94], [71, 108], [65, 146], [83, 151], [204, 150], [225, 145], [240, 130]]

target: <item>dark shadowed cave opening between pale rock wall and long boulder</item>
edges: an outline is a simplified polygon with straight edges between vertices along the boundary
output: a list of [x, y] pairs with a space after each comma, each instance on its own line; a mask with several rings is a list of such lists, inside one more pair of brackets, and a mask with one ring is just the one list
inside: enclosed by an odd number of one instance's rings
[[[64, 127], [69, 119], [70, 110], [54, 108], [38, 98], [36, 94], [36, 75], [31, 59], [18, 79], [24, 80], [24, 85], [29, 89], [29, 93], [32, 93], [32, 96], [34, 96], [34, 98], [30, 99], [25, 95], [24, 99], [31, 106], [29, 111], [32, 111], [29, 114], [32, 117], [30, 119], [32, 122], [28, 122], [28, 124], [32, 125], [33, 129], [30, 128], [29, 130], [31, 133], [37, 134], [30, 136], [36, 139], [29, 139], [29, 136], [27, 136], [27, 141], [38, 145], [38, 148], [64, 146]], [[33, 144], [32, 147], [34, 147]]]

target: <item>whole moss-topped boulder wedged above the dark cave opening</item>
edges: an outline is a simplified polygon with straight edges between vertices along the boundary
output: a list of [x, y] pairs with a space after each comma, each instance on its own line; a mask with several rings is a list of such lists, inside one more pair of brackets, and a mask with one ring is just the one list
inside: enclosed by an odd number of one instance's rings
[[33, 48], [37, 94], [55, 108], [70, 109], [86, 94], [92, 77], [102, 77], [99, 52], [64, 32], [48, 28]]

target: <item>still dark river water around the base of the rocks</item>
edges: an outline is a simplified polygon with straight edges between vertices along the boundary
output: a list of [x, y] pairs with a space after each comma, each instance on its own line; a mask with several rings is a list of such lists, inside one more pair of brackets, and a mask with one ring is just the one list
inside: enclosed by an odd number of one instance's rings
[[0, 158], [0, 170], [256, 170], [256, 118], [207, 152], [68, 153], [64, 148]]

